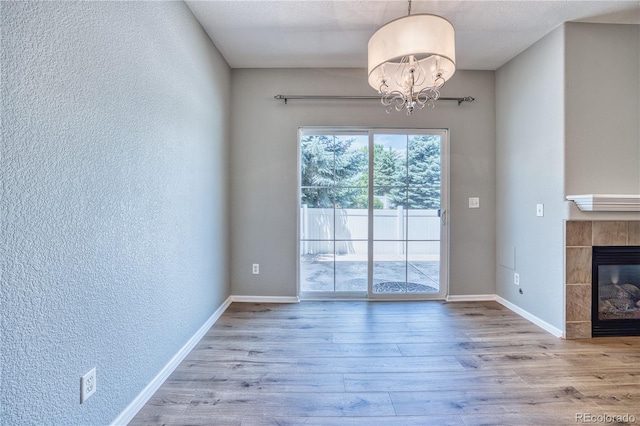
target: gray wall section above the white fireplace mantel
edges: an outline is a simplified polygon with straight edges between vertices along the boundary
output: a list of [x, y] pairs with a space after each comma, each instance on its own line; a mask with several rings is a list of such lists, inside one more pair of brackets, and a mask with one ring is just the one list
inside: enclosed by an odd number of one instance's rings
[[[566, 24], [565, 195], [640, 194], [640, 25]], [[640, 218], [581, 212], [570, 219]]]

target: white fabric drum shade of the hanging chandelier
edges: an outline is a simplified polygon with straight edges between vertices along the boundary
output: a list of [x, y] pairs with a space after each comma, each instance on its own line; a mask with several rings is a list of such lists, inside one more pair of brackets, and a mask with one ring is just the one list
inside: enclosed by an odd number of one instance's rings
[[416, 81], [420, 91], [434, 85], [436, 72], [446, 81], [456, 70], [455, 31], [446, 19], [429, 14], [410, 15], [381, 27], [369, 39], [369, 84], [380, 88], [383, 76], [389, 90], [402, 91], [396, 81], [402, 58], [414, 56], [425, 78]]

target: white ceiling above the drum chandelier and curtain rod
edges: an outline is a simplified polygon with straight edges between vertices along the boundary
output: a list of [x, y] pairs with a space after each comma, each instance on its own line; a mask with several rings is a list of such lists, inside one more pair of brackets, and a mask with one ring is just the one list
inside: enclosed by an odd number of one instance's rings
[[[187, 1], [232, 68], [366, 68], [367, 42], [408, 1]], [[640, 1], [420, 1], [456, 29], [457, 68], [495, 70], [563, 22], [640, 24]]]

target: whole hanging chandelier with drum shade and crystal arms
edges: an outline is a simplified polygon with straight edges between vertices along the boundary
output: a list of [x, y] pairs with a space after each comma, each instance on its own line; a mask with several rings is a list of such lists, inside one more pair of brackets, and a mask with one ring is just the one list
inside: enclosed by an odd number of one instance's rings
[[392, 109], [411, 115], [433, 108], [440, 89], [456, 71], [451, 22], [430, 14], [408, 15], [380, 27], [369, 39], [369, 85]]

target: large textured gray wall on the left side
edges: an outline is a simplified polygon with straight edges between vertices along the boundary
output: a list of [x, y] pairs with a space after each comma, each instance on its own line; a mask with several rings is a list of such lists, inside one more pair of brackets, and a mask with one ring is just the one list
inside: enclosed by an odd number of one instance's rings
[[230, 70], [182, 2], [0, 7], [0, 423], [108, 424], [229, 294]]

